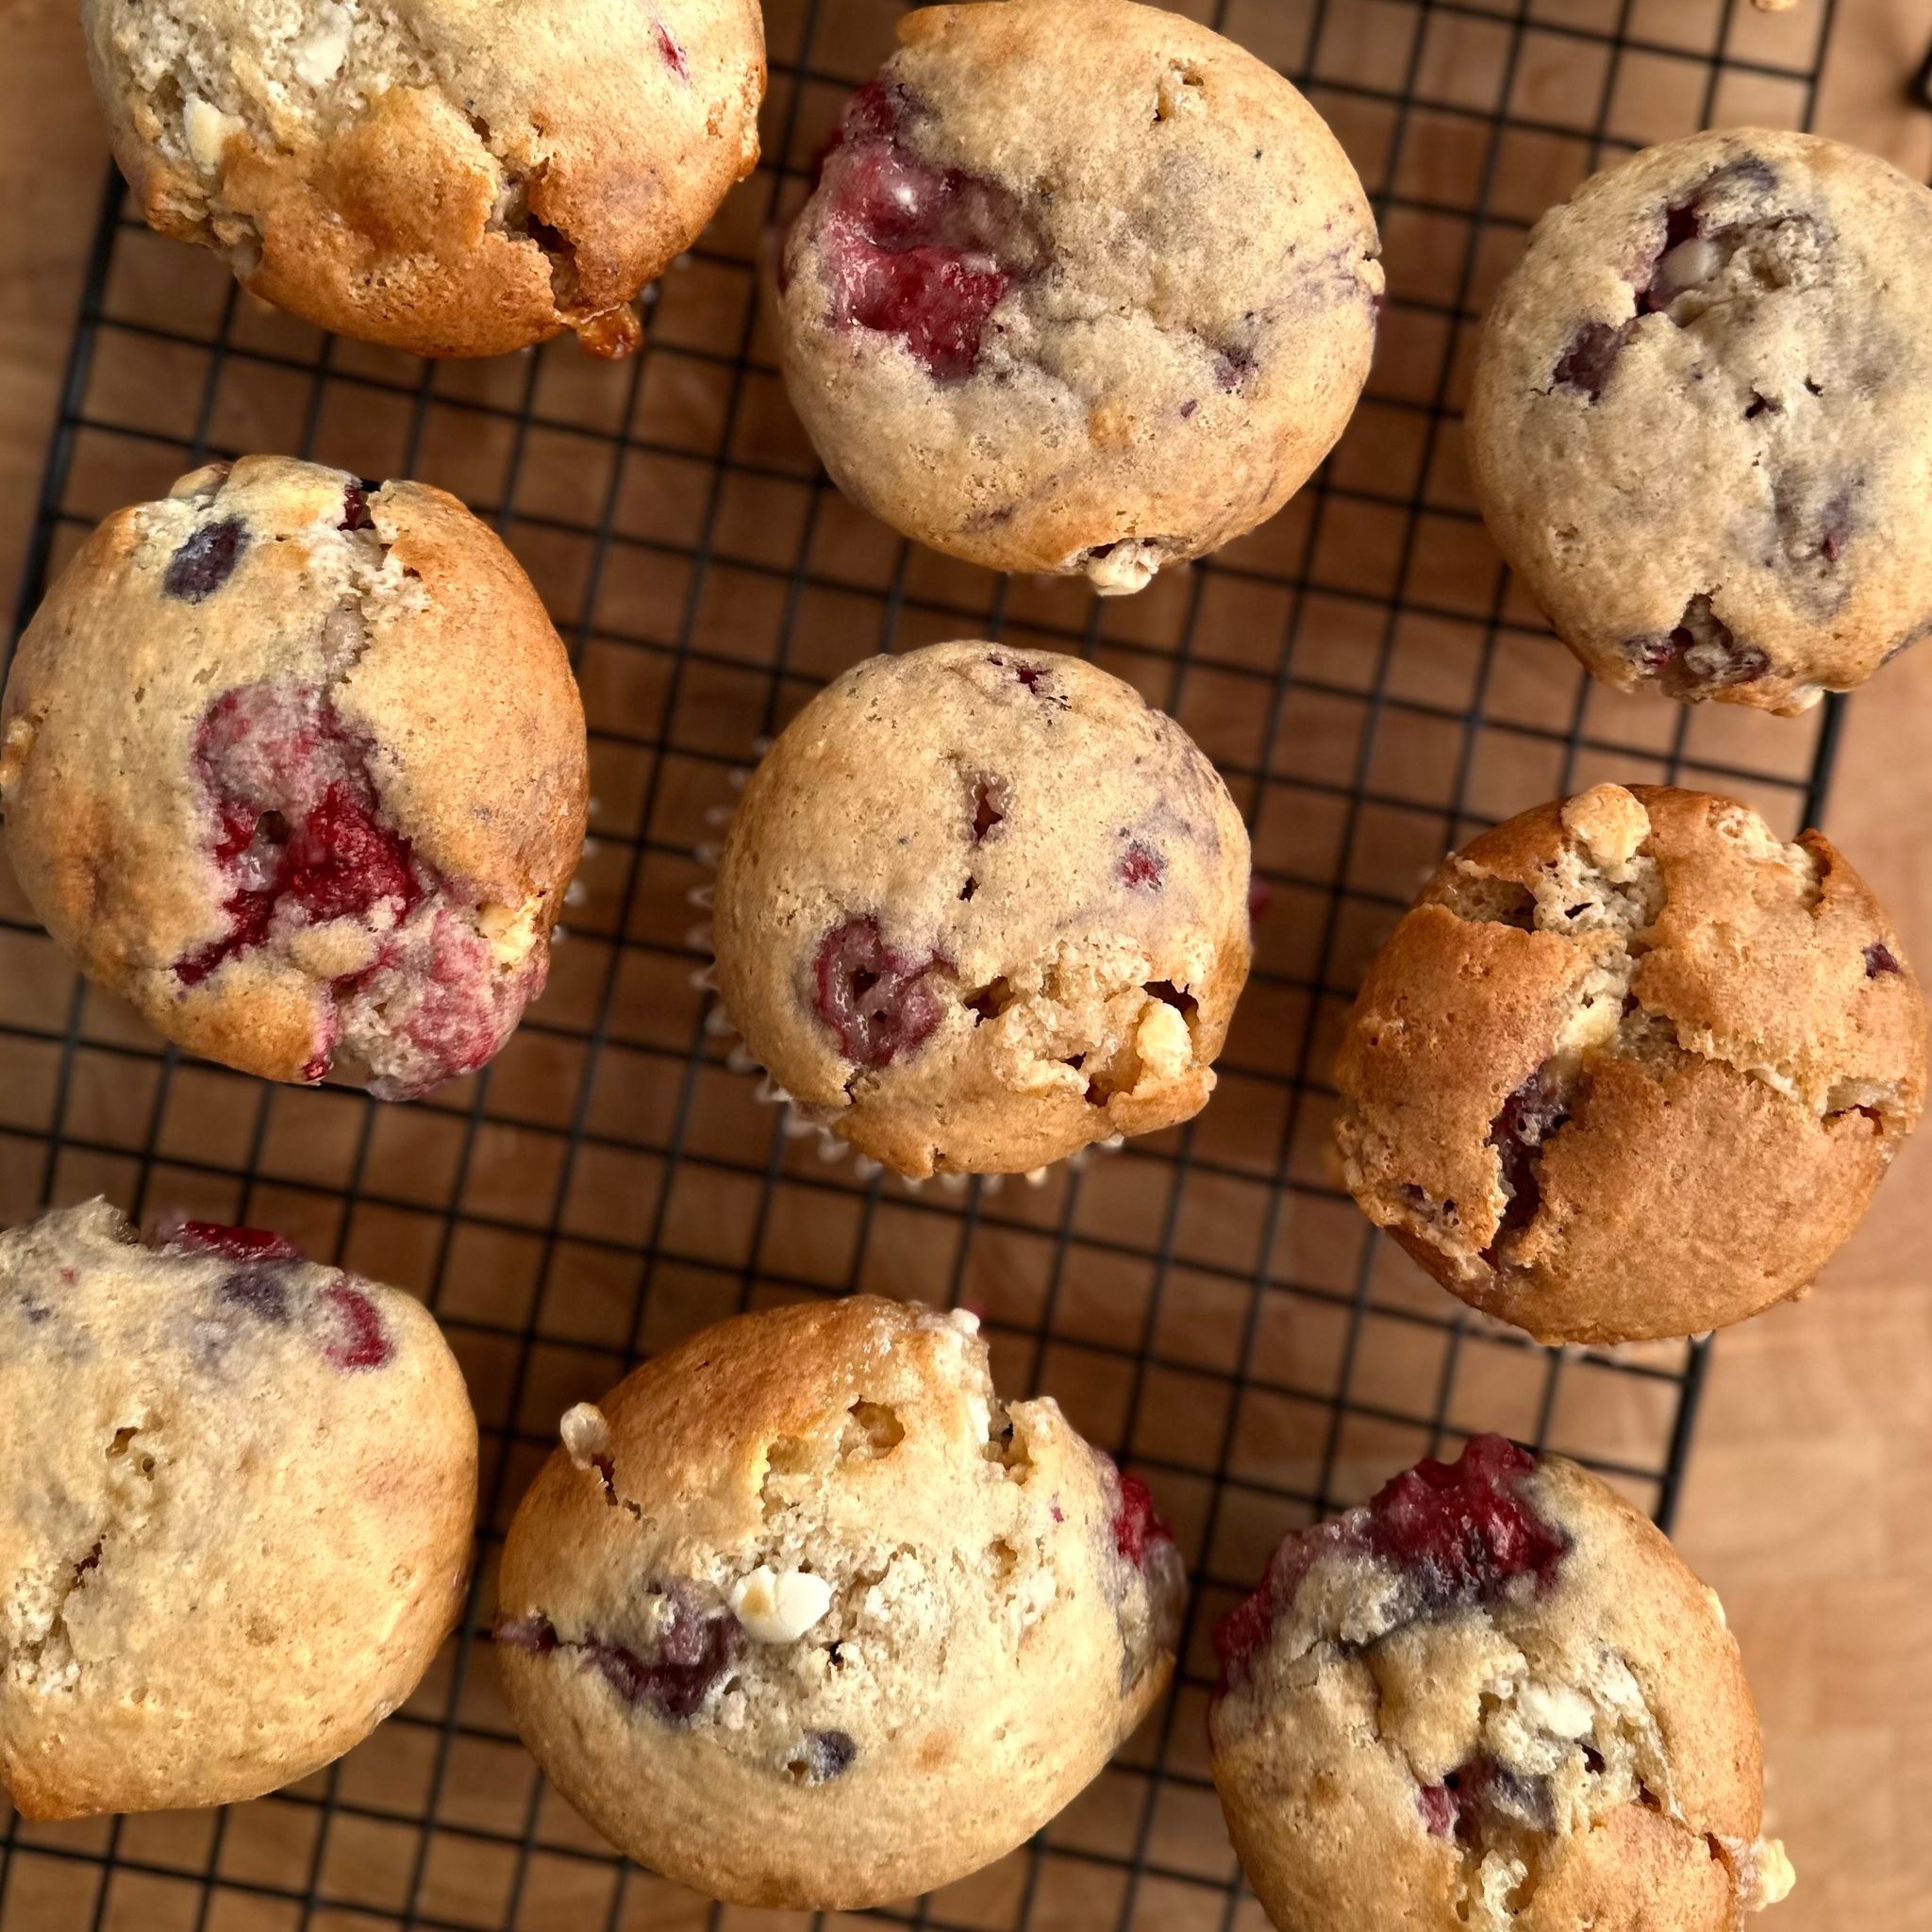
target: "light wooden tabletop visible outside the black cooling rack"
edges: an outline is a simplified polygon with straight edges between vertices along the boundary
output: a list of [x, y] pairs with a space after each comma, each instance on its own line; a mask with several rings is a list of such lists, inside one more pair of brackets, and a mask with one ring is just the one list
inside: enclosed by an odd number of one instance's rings
[[[1349, 4], [1349, 0], [1343, 0]], [[1816, 0], [1801, 0], [1803, 10]], [[1793, 29], [1795, 31], [1795, 29]], [[1843, 0], [1820, 124], [1924, 178], [1924, 0]], [[12, 597], [91, 243], [102, 141], [73, 0], [0, 0], [0, 585]], [[1743, 108], [1741, 112], [1748, 112]], [[1830, 831], [1932, 962], [1932, 649], [1853, 705]], [[1801, 1872], [1785, 1932], [1932, 1928], [1932, 1132], [1804, 1304], [1716, 1352], [1679, 1540], [1723, 1594]], [[4, 1932], [64, 1926], [58, 1907]], [[1151, 1920], [1150, 1920], [1151, 1924]]]

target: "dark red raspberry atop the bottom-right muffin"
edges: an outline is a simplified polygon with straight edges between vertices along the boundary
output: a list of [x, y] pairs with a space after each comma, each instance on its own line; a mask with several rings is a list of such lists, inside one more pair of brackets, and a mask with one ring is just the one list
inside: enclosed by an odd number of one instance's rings
[[1403, 1569], [1424, 1611], [1497, 1602], [1519, 1578], [1549, 1582], [1569, 1538], [1522, 1493], [1536, 1468], [1501, 1435], [1474, 1435], [1455, 1463], [1418, 1463], [1368, 1505], [1368, 1548]]

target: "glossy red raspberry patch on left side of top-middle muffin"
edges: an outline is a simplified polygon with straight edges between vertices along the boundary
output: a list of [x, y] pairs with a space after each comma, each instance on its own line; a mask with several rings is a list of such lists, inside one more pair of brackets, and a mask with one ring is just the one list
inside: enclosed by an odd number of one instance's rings
[[904, 143], [906, 108], [900, 89], [862, 87], [827, 151], [813, 205], [831, 321], [895, 334], [960, 383], [1034, 247], [1010, 193]]

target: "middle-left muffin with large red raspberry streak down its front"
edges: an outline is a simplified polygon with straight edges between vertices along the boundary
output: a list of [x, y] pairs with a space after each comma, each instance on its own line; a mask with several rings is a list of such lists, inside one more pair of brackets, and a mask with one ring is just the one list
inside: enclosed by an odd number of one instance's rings
[[543, 991], [583, 709], [454, 497], [274, 456], [110, 516], [21, 638], [0, 811], [54, 939], [168, 1039], [410, 1099]]

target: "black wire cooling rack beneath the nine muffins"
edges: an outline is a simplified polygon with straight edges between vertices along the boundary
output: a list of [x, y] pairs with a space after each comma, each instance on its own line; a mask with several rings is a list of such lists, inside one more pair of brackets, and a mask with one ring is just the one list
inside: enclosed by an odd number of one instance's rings
[[[518, 551], [572, 647], [593, 842], [553, 987], [487, 1074], [410, 1109], [162, 1049], [77, 983], [0, 867], [0, 1217], [95, 1192], [286, 1229], [442, 1318], [485, 1435], [464, 1631], [338, 1766], [218, 1814], [6, 1816], [0, 1928], [641, 1932], [750, 1926], [614, 1859], [518, 1748], [493, 1557], [556, 1416], [742, 1306], [871, 1289], [981, 1310], [1148, 1474], [1196, 1577], [1177, 1689], [1010, 1859], [883, 1917], [960, 1932], [1260, 1926], [1208, 1781], [1206, 1636], [1283, 1530], [1497, 1428], [1667, 1520], [1702, 1347], [1551, 1354], [1430, 1287], [1327, 1163], [1327, 1066], [1366, 958], [1482, 823], [1598, 779], [1816, 821], [1837, 707], [1789, 723], [1590, 686], [1472, 510], [1457, 408], [1524, 226], [1596, 166], [1725, 122], [1810, 122], [1832, 0], [1200, 0], [1314, 99], [1376, 197], [1381, 346], [1323, 473], [1138, 599], [900, 543], [817, 471], [775, 371], [763, 236], [804, 193], [889, 0], [769, 0], [769, 160], [655, 290], [628, 365], [570, 344], [417, 363], [238, 296], [106, 197], [21, 618], [81, 531], [211, 454], [415, 475]], [[1190, 1126], [1045, 1184], [908, 1192], [782, 1132], [726, 1065], [688, 895], [734, 767], [866, 651], [1078, 649], [1180, 717], [1254, 827], [1258, 966]]]

